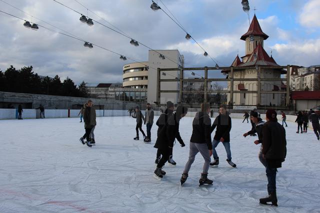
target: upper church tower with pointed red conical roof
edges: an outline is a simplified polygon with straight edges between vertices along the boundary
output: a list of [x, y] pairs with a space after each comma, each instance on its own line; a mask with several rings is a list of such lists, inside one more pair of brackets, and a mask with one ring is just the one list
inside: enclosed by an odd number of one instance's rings
[[268, 37], [269, 36], [262, 31], [258, 19], [254, 14], [248, 31], [240, 38], [241, 40], [245, 41], [245, 55], [241, 57], [242, 62], [245, 63], [247, 61], [258, 43], [260, 43], [263, 48], [263, 40], [267, 39]]

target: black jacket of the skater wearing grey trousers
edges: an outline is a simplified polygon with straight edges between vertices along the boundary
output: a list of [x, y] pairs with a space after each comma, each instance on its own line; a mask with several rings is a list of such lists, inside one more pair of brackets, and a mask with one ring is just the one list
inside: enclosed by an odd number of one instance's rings
[[212, 149], [211, 119], [203, 111], [197, 112], [193, 118], [190, 142], [206, 143], [208, 149]]

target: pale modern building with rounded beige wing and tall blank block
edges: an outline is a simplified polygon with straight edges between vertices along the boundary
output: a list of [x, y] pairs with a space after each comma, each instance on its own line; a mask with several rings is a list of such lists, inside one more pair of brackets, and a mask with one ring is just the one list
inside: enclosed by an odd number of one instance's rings
[[[149, 50], [148, 61], [128, 63], [123, 66], [123, 87], [147, 88], [147, 101], [154, 104], [156, 101], [157, 68], [183, 67], [183, 55], [177, 49], [173, 50]], [[179, 71], [168, 71], [161, 74], [161, 79], [179, 78]], [[162, 82], [161, 89], [177, 90], [179, 82]], [[160, 102], [171, 100], [176, 103], [178, 93], [162, 93]]]

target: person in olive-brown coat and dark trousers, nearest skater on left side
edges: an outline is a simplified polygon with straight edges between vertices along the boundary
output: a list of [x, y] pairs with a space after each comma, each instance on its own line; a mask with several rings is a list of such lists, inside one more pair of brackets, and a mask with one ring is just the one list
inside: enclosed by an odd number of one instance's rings
[[96, 114], [95, 114], [95, 109], [92, 107], [93, 102], [92, 100], [88, 100], [87, 106], [84, 108], [83, 111], [83, 121], [84, 121], [84, 129], [85, 129], [85, 134], [80, 137], [80, 141], [82, 144], [85, 144], [84, 138], [86, 139], [86, 145], [87, 146], [92, 146], [90, 142], [90, 133], [92, 130], [92, 127], [96, 125]]

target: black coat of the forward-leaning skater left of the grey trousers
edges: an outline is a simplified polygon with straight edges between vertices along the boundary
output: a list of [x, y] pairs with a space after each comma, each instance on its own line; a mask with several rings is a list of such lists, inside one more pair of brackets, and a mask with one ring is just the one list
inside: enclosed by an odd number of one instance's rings
[[158, 135], [153, 147], [159, 149], [173, 147], [175, 138], [181, 145], [184, 144], [179, 133], [179, 121], [177, 121], [176, 113], [169, 116], [167, 123], [158, 131]]

